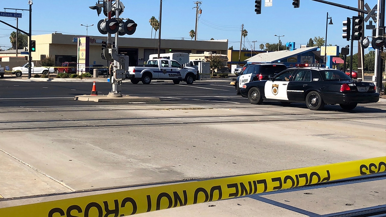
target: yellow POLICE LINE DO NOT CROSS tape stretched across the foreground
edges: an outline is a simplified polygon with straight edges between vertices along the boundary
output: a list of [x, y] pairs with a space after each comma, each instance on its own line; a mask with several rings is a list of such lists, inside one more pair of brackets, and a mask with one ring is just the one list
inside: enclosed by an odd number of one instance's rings
[[[262, 192], [324, 183], [386, 170], [386, 156], [252, 175], [192, 181], [0, 209], [4, 217], [125, 216]], [[53, 196], [46, 196], [53, 197]], [[49, 198], [44, 198], [46, 200]], [[39, 199], [40, 200], [40, 199]], [[0, 202], [1, 205], [1, 202]]]

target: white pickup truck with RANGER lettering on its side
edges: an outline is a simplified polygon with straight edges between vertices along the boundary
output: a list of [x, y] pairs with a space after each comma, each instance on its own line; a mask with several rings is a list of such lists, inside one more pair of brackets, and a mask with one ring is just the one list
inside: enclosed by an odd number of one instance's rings
[[184, 67], [173, 59], [149, 59], [144, 66], [130, 66], [126, 77], [131, 83], [149, 84], [151, 80], [173, 80], [174, 84], [185, 81], [188, 85], [196, 80], [197, 70]]

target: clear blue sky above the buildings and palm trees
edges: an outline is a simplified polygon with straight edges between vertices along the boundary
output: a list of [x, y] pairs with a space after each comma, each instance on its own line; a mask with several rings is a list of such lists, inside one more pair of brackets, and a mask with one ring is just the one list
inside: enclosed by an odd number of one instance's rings
[[[356, 0], [332, 0], [335, 3], [349, 4], [357, 7]], [[3, 8], [27, 9], [27, 0], [2, 1]], [[80, 24], [94, 24], [88, 28], [91, 36], [101, 36], [96, 24], [105, 18], [103, 13], [97, 16], [95, 10], [88, 8], [95, 5], [96, 0], [34, 0], [32, 5], [32, 34], [50, 34], [54, 31], [63, 34], [86, 34], [86, 27]], [[151, 16], [159, 17], [159, 0], [122, 0], [125, 11], [121, 15], [130, 18], [137, 24], [136, 32], [130, 37], [150, 38]], [[190, 40], [189, 31], [195, 29], [195, 4], [193, 0], [163, 0], [162, 38]], [[370, 7], [374, 7], [377, 0], [367, 0]], [[310, 37], [325, 37], [326, 13], [332, 17], [334, 25], [328, 25], [327, 44], [345, 46], [348, 41], [342, 39], [342, 21], [346, 17], [357, 15], [357, 12], [344, 8], [326, 5], [311, 0], [300, 0], [300, 8], [293, 8], [291, 0], [273, 0], [273, 7], [264, 7], [262, 12], [254, 12], [254, 0], [202, 0], [200, 8], [202, 14], [198, 23], [198, 39], [209, 40], [228, 39], [229, 46], [239, 49], [241, 24], [248, 31], [245, 46], [250, 49], [252, 41], [259, 44], [276, 43], [278, 37], [284, 35], [281, 41], [294, 41], [296, 47], [306, 44]], [[7, 10], [7, 12], [15, 12]], [[20, 12], [19, 27], [28, 32], [28, 11]], [[0, 20], [16, 25], [16, 20], [0, 17]], [[10, 47], [9, 34], [14, 31], [11, 27], [0, 23], [0, 46]], [[367, 36], [371, 31], [366, 31]], [[127, 36], [124, 36], [127, 37]], [[154, 37], [154, 31], [153, 31]], [[158, 37], [158, 34], [157, 34]], [[244, 41], [244, 39], [243, 39]], [[354, 47], [357, 44], [354, 43]], [[354, 53], [356, 51], [354, 50]]]

